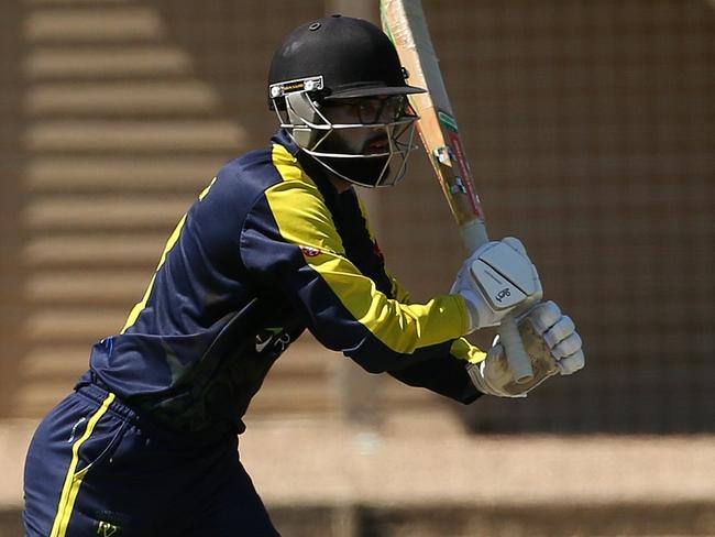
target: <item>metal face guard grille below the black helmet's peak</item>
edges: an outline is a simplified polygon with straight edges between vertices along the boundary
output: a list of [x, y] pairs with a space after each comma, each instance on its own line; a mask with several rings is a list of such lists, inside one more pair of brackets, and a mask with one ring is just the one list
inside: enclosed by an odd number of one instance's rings
[[[278, 98], [278, 90], [272, 90], [273, 94]], [[416, 149], [415, 121], [418, 119], [405, 95], [382, 97], [377, 107], [352, 105], [356, 109], [358, 122], [354, 123], [336, 123], [324, 113], [327, 108], [340, 106], [340, 99], [321, 105], [307, 91], [280, 97], [285, 98], [284, 106], [274, 105], [280, 127], [305, 153], [336, 176], [364, 187], [393, 186], [405, 176], [407, 158]], [[367, 103], [376, 99], [364, 97], [362, 100]], [[356, 152], [340, 141], [341, 133], [351, 131], [365, 131], [372, 134], [370, 139], [384, 139], [386, 144], [377, 151], [363, 147]]]

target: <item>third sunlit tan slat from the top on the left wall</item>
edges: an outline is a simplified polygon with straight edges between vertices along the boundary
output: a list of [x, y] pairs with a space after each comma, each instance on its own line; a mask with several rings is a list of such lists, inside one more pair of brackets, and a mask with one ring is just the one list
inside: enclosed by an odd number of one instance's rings
[[26, 92], [31, 118], [66, 114], [81, 117], [196, 116], [220, 109], [219, 96], [196, 80], [109, 83], [42, 83]]

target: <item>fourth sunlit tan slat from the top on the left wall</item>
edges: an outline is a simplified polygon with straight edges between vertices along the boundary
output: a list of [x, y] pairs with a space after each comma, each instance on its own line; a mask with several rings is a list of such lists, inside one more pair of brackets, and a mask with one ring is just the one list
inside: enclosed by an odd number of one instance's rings
[[25, 146], [31, 153], [90, 152], [226, 153], [244, 145], [241, 127], [220, 119], [195, 120], [45, 120], [30, 123]]

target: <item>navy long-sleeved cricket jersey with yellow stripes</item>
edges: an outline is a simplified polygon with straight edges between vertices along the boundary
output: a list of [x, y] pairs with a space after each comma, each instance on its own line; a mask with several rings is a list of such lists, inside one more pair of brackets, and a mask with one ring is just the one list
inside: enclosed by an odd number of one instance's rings
[[180, 219], [121, 333], [92, 349], [87, 379], [177, 430], [241, 432], [278, 355], [307, 328], [373, 373], [469, 403], [455, 295], [409, 304], [385, 271], [351, 188], [279, 132], [229, 162]]

